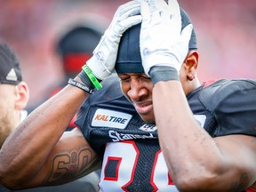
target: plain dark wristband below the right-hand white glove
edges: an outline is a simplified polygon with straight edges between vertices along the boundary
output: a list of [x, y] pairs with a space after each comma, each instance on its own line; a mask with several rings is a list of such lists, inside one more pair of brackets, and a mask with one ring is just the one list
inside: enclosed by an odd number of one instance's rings
[[154, 66], [150, 68], [148, 74], [151, 77], [153, 86], [159, 81], [180, 81], [180, 76], [176, 68], [169, 66]]

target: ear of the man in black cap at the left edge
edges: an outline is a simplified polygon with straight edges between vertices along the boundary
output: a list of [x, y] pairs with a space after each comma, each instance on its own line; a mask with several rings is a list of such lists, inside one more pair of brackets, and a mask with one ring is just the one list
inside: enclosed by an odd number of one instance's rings
[[26, 84], [23, 81], [17, 84], [16, 95], [17, 95], [17, 99], [15, 100], [15, 108], [17, 110], [22, 110], [26, 108], [29, 100], [28, 84]]

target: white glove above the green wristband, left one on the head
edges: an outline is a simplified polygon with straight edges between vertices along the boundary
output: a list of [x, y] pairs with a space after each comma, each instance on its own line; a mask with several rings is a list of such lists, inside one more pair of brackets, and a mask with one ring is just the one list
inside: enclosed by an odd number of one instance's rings
[[108, 29], [93, 51], [92, 58], [86, 64], [100, 80], [106, 79], [115, 70], [116, 56], [120, 38], [127, 28], [141, 22], [140, 1], [131, 1], [121, 5]]

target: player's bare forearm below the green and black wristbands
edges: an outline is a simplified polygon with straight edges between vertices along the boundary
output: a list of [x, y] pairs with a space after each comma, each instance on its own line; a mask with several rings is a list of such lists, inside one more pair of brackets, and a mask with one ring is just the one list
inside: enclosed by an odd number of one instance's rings
[[36, 108], [12, 132], [1, 148], [1, 182], [39, 172], [69, 121], [87, 97], [88, 93], [68, 85]]

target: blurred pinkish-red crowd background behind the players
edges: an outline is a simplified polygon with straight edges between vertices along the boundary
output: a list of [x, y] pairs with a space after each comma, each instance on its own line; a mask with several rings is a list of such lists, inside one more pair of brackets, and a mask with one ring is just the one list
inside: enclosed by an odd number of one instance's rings
[[[30, 87], [28, 106], [63, 81], [56, 42], [69, 28], [104, 31], [124, 0], [0, 0], [0, 38], [19, 54]], [[180, 0], [196, 28], [199, 77], [256, 78], [256, 2]], [[207, 69], [206, 69], [207, 68]], [[210, 69], [209, 69], [210, 68]], [[204, 74], [200, 76], [200, 71]]]

